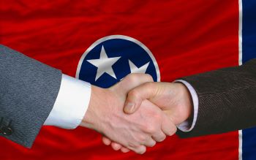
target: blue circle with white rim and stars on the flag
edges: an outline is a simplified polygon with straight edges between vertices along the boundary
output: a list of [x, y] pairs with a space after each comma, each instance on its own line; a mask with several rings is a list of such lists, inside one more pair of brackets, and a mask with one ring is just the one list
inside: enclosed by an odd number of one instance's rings
[[76, 77], [109, 88], [130, 73], [146, 73], [159, 81], [159, 68], [151, 51], [132, 37], [113, 35], [91, 45], [80, 58]]

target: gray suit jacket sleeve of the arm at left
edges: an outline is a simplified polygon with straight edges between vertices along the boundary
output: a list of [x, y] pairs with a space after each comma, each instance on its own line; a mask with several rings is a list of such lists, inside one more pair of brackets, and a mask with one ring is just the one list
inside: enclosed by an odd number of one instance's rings
[[0, 135], [31, 148], [53, 108], [61, 71], [0, 45]]

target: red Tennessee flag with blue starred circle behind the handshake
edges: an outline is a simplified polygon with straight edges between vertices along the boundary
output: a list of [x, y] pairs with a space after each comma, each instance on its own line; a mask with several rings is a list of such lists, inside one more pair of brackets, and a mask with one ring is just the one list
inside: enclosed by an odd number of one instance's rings
[[[255, 0], [1, 0], [0, 20], [1, 44], [105, 88], [130, 72], [172, 82], [256, 58]], [[108, 72], [97, 72], [102, 57], [115, 58]], [[1, 159], [256, 159], [256, 129], [173, 135], [143, 155], [81, 127], [43, 126], [31, 149], [0, 144]]]

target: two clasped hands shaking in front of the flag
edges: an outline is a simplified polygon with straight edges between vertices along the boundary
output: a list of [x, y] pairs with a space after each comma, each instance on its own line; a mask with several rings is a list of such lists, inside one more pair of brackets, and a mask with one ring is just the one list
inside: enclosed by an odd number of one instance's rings
[[103, 135], [105, 145], [126, 153], [145, 153], [192, 115], [192, 99], [182, 83], [154, 83], [131, 74], [110, 88], [91, 86], [89, 108], [80, 126]]

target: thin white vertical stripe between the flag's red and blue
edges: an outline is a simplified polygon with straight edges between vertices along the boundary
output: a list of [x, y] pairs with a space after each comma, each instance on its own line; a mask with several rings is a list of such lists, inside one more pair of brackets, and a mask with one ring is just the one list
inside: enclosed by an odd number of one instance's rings
[[[238, 5], [239, 5], [239, 28], [238, 28], [238, 64], [239, 66], [242, 65], [242, 27], [243, 27], [243, 5], [242, 5], [242, 0], [238, 0]], [[242, 130], [238, 131], [238, 138], [239, 138], [239, 148], [238, 148], [238, 159], [242, 160], [243, 159], [243, 132]]]

